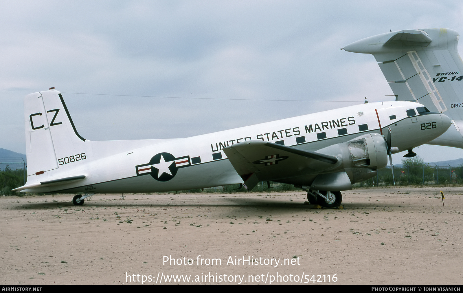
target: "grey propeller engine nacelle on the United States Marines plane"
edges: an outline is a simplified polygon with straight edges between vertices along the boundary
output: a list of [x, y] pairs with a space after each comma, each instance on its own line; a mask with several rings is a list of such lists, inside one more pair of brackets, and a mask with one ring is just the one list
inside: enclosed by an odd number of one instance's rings
[[352, 184], [376, 176], [377, 170], [388, 164], [386, 141], [376, 133], [363, 134], [347, 142], [322, 148], [317, 153], [334, 155], [341, 163], [313, 180], [311, 188], [316, 190], [352, 189]]

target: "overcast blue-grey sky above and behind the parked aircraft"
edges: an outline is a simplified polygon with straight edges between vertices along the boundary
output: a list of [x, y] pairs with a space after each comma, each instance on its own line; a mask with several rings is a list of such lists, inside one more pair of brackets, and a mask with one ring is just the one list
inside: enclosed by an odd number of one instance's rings
[[23, 98], [50, 87], [88, 140], [181, 138], [391, 100], [374, 57], [339, 48], [389, 30], [463, 32], [462, 15], [452, 0], [0, 1], [0, 147], [25, 153]]

